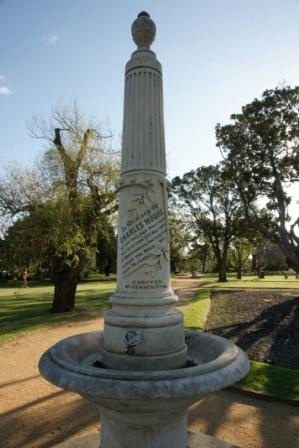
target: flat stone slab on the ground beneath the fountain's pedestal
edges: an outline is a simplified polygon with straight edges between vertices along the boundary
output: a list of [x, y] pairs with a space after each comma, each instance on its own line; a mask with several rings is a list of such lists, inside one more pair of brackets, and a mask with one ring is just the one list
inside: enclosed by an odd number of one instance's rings
[[[67, 442], [55, 445], [53, 448], [99, 448], [100, 433], [90, 436], [81, 437], [76, 440], [69, 440]], [[240, 448], [237, 445], [232, 445], [224, 440], [216, 439], [216, 437], [207, 434], [196, 434], [194, 432], [188, 433], [188, 448]]]

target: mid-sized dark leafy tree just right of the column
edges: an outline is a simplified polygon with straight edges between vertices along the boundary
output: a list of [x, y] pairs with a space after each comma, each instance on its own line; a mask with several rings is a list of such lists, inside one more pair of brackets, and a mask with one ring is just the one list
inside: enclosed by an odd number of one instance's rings
[[225, 282], [228, 248], [239, 232], [242, 208], [220, 165], [200, 167], [172, 181], [177, 203], [192, 217], [194, 233], [209, 241], [218, 264], [219, 281]]

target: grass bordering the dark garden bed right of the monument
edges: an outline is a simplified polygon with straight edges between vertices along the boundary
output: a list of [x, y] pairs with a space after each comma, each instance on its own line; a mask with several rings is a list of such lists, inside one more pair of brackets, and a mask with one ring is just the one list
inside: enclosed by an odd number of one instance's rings
[[[215, 287], [223, 287], [223, 285], [225, 285], [225, 289], [227, 289], [227, 283], [215, 283], [214, 277], [204, 276], [203, 280], [205, 280], [207, 284], [199, 289], [197, 296], [186, 308], [184, 315], [185, 327], [191, 330], [202, 330], [204, 328], [204, 324], [210, 309], [211, 289]], [[277, 278], [271, 282], [270, 278], [260, 281], [256, 278], [254, 279], [250, 277], [248, 279], [245, 277], [243, 280], [229, 279], [228, 283], [232, 288], [246, 287], [246, 289], [251, 287], [276, 288], [277, 283], [284, 284], [283, 288], [296, 289], [299, 287], [298, 280], [285, 280], [284, 283], [281, 279]], [[261, 286], [261, 284], [266, 286]], [[250, 361], [250, 372], [236, 385], [236, 387], [273, 397], [297, 401], [299, 400], [299, 371], [295, 369], [286, 369], [284, 367], [278, 367], [259, 361]]]

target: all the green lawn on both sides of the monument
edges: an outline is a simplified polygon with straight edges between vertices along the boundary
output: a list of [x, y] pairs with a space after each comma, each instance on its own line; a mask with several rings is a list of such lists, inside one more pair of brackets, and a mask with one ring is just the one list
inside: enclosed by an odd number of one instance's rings
[[[253, 276], [237, 280], [232, 276], [226, 283], [218, 283], [216, 276], [201, 276], [202, 286], [195, 299], [186, 308], [184, 322], [189, 329], [202, 329], [210, 308], [212, 288], [290, 288], [299, 289], [299, 280], [282, 276], [259, 280]], [[31, 282], [22, 288], [21, 282], [0, 284], [0, 341], [60, 322], [90, 319], [100, 315], [108, 306], [108, 299], [115, 289], [115, 277], [111, 279], [90, 277], [78, 285], [76, 310], [71, 313], [51, 314], [53, 286]], [[299, 400], [299, 372], [296, 370], [252, 361], [249, 374], [238, 387], [276, 397]]]

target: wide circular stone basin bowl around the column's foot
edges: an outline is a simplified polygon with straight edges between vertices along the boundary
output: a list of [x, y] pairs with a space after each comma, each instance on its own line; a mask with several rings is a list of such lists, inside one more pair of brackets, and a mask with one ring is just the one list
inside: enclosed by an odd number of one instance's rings
[[[186, 332], [188, 362], [174, 370], [124, 371], [101, 366], [101, 332], [58, 342], [39, 363], [41, 374], [63, 389], [101, 400], [187, 399], [229, 386], [249, 371], [245, 353], [232, 342], [204, 332]], [[99, 366], [99, 367], [97, 367]]]

